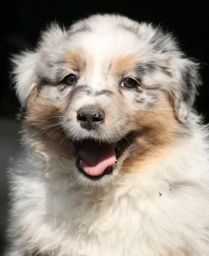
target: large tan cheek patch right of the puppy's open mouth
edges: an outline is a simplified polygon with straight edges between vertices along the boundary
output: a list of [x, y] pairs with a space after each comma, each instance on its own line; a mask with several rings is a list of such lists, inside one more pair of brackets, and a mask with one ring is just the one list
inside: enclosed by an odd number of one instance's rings
[[138, 111], [136, 122], [141, 131], [133, 143], [135, 155], [123, 164], [122, 172], [141, 172], [163, 161], [167, 150], [180, 133], [178, 121], [166, 96], [158, 93], [159, 104], [149, 111]]

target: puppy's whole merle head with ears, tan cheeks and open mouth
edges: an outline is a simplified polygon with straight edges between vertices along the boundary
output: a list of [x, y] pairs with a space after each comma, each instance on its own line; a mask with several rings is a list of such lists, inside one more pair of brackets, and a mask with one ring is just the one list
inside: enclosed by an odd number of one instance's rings
[[53, 25], [13, 62], [29, 137], [73, 160], [78, 180], [144, 170], [189, 134], [198, 64], [150, 24], [95, 15]]

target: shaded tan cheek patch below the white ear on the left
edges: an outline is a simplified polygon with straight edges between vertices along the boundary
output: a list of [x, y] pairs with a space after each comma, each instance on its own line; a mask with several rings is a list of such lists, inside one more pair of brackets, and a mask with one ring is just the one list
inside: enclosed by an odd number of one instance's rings
[[71, 145], [63, 140], [65, 134], [59, 124], [59, 116], [64, 112], [66, 104], [67, 102], [60, 104], [48, 102], [42, 92], [37, 93], [35, 87], [31, 92], [25, 116], [25, 122], [34, 128], [34, 132], [30, 138], [23, 137], [23, 140], [25, 139], [26, 142], [31, 140], [30, 145], [38, 151], [47, 147], [62, 157], [72, 159]]

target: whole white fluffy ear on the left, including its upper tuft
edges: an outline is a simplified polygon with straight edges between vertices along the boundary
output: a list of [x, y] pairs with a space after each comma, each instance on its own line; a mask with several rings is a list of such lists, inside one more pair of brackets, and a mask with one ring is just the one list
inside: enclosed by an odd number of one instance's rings
[[65, 37], [65, 30], [61, 29], [56, 23], [52, 23], [42, 32], [38, 48], [34, 52], [22, 52], [14, 55], [11, 59], [14, 88], [21, 106], [25, 104], [25, 100], [37, 83], [36, 73], [42, 65], [41, 56], [48, 52], [52, 55], [54, 47], [59, 45], [59, 42]]

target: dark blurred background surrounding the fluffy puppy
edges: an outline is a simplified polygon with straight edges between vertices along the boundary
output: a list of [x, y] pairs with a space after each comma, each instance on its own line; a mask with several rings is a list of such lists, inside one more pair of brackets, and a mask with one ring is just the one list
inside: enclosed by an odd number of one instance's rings
[[209, 121], [209, 18], [206, 1], [47, 1], [18, 0], [0, 3], [0, 255], [5, 245], [7, 182], [5, 170], [9, 157], [18, 151], [18, 130], [15, 119], [19, 103], [9, 81], [9, 56], [36, 45], [40, 30], [51, 21], [69, 26], [74, 20], [90, 14], [116, 12], [138, 21], [161, 24], [179, 39], [182, 49], [190, 57], [203, 63], [203, 87], [196, 108]]

